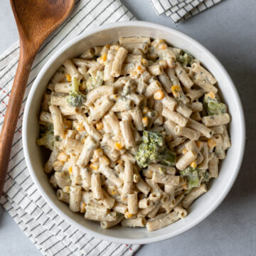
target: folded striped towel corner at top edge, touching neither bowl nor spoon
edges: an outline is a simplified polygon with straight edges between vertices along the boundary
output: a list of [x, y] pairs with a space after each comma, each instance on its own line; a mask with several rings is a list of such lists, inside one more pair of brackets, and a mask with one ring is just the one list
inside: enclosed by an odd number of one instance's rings
[[174, 23], [195, 16], [223, 0], [150, 0], [156, 13], [166, 14]]

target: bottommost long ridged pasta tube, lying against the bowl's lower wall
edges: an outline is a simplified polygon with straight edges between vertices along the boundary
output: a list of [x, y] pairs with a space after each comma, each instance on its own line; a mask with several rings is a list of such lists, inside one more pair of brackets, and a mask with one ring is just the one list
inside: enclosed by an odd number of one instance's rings
[[175, 223], [178, 219], [178, 214], [175, 212], [156, 215], [156, 218], [152, 218], [147, 221], [146, 229], [148, 231], [158, 230], [160, 228], [166, 227], [167, 225], [170, 225], [171, 223]]

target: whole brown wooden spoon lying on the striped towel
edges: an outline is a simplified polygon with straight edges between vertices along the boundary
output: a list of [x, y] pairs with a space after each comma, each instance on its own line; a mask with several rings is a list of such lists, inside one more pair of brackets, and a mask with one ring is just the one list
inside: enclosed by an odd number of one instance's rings
[[31, 65], [43, 41], [65, 21], [74, 4], [75, 0], [11, 0], [21, 48], [0, 136], [0, 196]]

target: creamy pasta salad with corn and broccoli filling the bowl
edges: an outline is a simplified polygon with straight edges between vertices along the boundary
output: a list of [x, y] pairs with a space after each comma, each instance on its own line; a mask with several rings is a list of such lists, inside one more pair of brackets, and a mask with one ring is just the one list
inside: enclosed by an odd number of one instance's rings
[[217, 80], [164, 40], [122, 37], [65, 60], [43, 96], [39, 146], [60, 201], [102, 228], [185, 218], [218, 177], [230, 116]]

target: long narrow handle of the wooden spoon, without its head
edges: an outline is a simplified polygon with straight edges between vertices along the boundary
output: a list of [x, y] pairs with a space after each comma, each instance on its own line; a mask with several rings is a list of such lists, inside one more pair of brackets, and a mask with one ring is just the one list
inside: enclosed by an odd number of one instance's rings
[[0, 135], [0, 196], [4, 188], [6, 172], [8, 169], [11, 146], [14, 139], [18, 114], [21, 110], [23, 95], [26, 90], [28, 76], [31, 70], [34, 56], [27, 58], [21, 48], [18, 68], [14, 78], [14, 85], [11, 89], [6, 115], [4, 118], [3, 128]]

